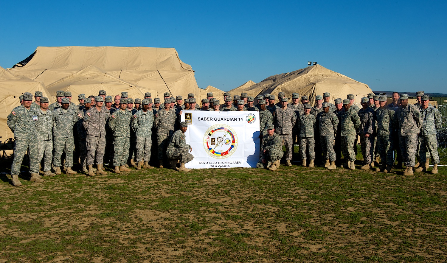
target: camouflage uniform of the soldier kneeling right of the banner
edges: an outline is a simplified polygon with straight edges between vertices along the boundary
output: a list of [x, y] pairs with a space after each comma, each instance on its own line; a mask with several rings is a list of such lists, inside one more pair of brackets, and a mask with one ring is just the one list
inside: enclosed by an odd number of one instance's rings
[[[266, 150], [265, 153], [264, 150]], [[283, 154], [284, 152], [281, 137], [275, 133], [272, 136], [266, 134], [262, 137], [261, 158], [257, 162], [256, 167], [270, 167], [274, 162], [283, 158]], [[266, 163], [262, 163], [262, 159], [266, 159]]]

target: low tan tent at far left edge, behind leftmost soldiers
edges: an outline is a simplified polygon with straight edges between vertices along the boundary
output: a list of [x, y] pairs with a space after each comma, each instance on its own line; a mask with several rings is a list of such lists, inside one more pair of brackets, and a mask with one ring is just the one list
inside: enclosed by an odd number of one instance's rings
[[14, 134], [9, 129], [6, 121], [9, 113], [20, 106], [19, 96], [25, 92], [30, 92], [34, 96], [35, 91], [41, 91], [43, 96], [49, 97], [50, 103], [53, 100], [46, 88], [37, 81], [25, 76], [16, 76], [0, 67], [0, 141], [7, 142], [9, 138], [14, 138]]

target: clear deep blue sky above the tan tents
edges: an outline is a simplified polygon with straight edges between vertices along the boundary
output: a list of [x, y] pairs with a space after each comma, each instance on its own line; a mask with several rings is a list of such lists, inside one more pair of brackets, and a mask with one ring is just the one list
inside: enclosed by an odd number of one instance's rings
[[38, 46], [174, 47], [228, 91], [317, 61], [372, 90], [447, 93], [447, 1], [3, 1], [0, 66]]

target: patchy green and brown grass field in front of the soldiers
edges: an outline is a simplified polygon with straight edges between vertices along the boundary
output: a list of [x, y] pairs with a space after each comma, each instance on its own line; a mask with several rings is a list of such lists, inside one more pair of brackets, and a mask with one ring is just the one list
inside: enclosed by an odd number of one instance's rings
[[401, 172], [1, 175], [0, 262], [445, 262], [447, 168]]

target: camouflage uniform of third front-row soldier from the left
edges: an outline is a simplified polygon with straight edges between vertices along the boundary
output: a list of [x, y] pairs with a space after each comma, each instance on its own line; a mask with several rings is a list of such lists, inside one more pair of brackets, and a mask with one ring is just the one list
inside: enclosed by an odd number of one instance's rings
[[73, 150], [75, 142], [73, 140], [73, 125], [77, 121], [76, 112], [68, 108], [55, 109], [53, 112], [53, 146], [55, 154], [53, 165], [61, 167], [61, 156], [65, 151], [65, 167], [73, 167]]

